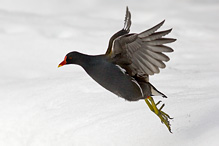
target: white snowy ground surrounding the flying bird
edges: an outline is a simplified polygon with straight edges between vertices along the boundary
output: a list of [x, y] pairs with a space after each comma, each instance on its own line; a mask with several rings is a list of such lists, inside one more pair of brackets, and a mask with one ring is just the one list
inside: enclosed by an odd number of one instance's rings
[[[66, 53], [104, 53], [123, 27], [166, 19], [175, 52], [150, 78], [169, 98], [173, 134], [144, 101], [106, 91]], [[0, 0], [0, 146], [216, 146], [219, 144], [218, 0]], [[155, 100], [158, 101], [158, 97]]]

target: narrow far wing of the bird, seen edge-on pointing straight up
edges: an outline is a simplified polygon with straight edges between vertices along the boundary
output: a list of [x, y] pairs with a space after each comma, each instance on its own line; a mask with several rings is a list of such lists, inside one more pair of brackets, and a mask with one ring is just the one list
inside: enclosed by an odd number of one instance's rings
[[128, 34], [130, 31], [130, 27], [131, 27], [131, 13], [128, 9], [128, 7], [126, 7], [126, 15], [125, 15], [125, 23], [124, 23], [124, 27], [122, 30], [118, 31], [117, 33], [115, 33], [109, 40], [109, 45], [107, 48], [107, 51], [105, 53], [105, 55], [110, 55], [112, 53], [112, 45], [113, 45], [113, 41], [118, 38], [119, 36]]

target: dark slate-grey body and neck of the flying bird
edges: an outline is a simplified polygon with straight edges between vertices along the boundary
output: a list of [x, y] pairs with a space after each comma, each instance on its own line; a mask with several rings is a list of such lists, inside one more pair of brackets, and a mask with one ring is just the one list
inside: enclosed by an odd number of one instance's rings
[[82, 66], [88, 75], [107, 90], [129, 101], [144, 98], [135, 80], [110, 62], [106, 56], [90, 56], [79, 52], [72, 54], [81, 58], [76, 64]]

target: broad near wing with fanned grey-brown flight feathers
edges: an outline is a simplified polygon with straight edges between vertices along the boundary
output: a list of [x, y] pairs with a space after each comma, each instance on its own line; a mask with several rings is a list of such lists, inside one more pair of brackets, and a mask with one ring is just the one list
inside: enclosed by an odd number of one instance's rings
[[164, 44], [172, 43], [176, 39], [163, 38], [172, 29], [156, 32], [164, 21], [139, 34], [127, 34], [114, 41], [111, 59], [122, 66], [129, 75], [144, 77], [159, 73], [159, 68], [165, 68], [164, 62], [169, 57], [163, 52], [173, 52]]

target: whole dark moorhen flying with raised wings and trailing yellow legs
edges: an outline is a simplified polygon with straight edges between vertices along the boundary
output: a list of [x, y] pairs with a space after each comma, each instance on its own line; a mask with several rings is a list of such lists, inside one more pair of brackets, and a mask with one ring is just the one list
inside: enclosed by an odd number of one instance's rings
[[131, 13], [126, 7], [124, 27], [110, 38], [105, 54], [87, 55], [72, 51], [58, 67], [80, 65], [91, 78], [118, 97], [130, 102], [145, 100], [149, 109], [172, 133], [172, 118], [162, 110], [165, 104], [158, 108], [161, 101], [155, 103], [153, 99], [155, 96], [167, 96], [149, 82], [149, 76], [158, 74], [166, 67], [164, 62], [170, 60], [164, 53], [173, 52], [173, 49], [165, 44], [176, 41], [164, 37], [172, 29], [158, 31], [164, 22], [140, 33], [129, 33]]

